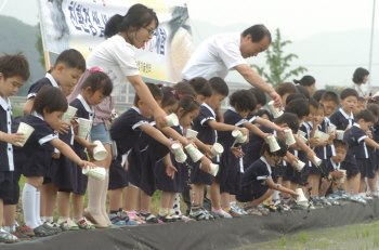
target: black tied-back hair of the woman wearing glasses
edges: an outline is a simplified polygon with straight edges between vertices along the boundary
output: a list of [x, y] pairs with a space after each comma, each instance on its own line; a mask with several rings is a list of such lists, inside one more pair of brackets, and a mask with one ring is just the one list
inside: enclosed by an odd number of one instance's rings
[[148, 26], [153, 21], [156, 22], [156, 27], [159, 25], [157, 14], [141, 3], [132, 5], [125, 16], [116, 14], [112, 16], [105, 25], [104, 36], [106, 38], [114, 35], [128, 31], [131, 27], [142, 28]]

